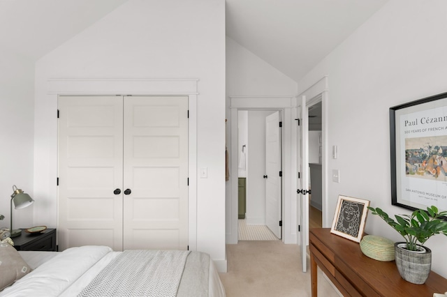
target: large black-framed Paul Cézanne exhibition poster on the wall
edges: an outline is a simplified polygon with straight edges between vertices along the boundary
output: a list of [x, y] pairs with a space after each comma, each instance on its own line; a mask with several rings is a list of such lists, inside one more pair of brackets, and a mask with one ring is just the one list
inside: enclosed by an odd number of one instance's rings
[[391, 203], [447, 211], [447, 93], [390, 108]]

